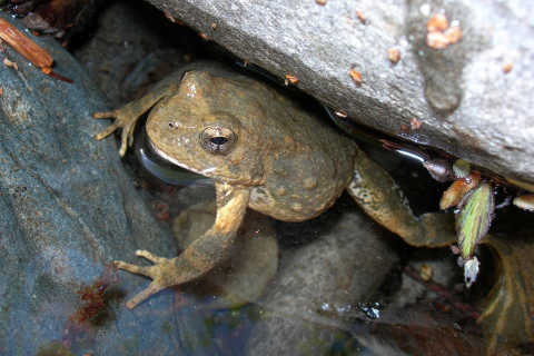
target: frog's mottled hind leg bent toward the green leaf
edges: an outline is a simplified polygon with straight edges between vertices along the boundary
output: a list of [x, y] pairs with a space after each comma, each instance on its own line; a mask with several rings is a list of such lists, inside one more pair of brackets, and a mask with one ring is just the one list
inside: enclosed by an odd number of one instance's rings
[[347, 190], [374, 220], [409, 245], [439, 247], [456, 241], [454, 217], [429, 212], [416, 218], [392, 176], [363, 151]]

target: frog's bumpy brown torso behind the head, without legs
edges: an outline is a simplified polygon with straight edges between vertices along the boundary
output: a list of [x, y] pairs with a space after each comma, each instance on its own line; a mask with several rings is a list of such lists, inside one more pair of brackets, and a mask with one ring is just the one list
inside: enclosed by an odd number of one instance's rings
[[249, 206], [286, 221], [313, 218], [350, 181], [357, 146], [298, 102], [276, 91], [264, 98], [265, 185], [253, 189]]

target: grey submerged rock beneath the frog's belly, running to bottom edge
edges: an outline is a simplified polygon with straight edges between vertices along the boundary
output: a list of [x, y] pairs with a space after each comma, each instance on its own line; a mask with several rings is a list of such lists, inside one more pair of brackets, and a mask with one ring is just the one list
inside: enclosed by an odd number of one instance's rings
[[395, 260], [389, 234], [369, 222], [342, 199], [308, 225], [276, 224], [280, 240], [309, 240], [296, 249], [286, 245], [275, 281], [257, 301], [263, 320], [251, 330], [247, 355], [330, 349], [336, 335], [354, 323], [357, 304], [372, 297]]

